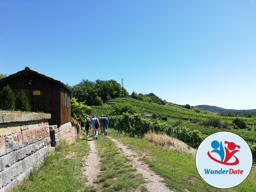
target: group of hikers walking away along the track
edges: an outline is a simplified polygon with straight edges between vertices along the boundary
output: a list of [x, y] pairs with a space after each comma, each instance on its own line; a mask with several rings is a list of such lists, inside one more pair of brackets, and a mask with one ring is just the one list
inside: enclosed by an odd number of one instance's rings
[[[85, 115], [84, 117], [80, 116], [81, 120], [81, 129], [83, 132], [86, 132], [86, 136], [88, 136], [89, 129], [92, 129], [93, 132], [93, 139], [97, 140], [98, 135], [100, 133], [104, 134], [107, 136], [108, 134], [108, 118], [105, 115], [101, 115], [100, 119], [96, 115], [93, 115], [93, 117]], [[100, 128], [100, 133], [99, 133], [99, 128]]]

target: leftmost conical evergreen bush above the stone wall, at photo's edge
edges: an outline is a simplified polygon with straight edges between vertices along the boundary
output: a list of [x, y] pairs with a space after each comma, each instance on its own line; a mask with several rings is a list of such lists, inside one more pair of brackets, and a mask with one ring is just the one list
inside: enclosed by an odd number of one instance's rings
[[3, 91], [0, 92], [0, 108], [3, 110], [14, 110], [14, 101], [14, 92], [12, 92], [9, 85], [7, 85], [3, 88]]

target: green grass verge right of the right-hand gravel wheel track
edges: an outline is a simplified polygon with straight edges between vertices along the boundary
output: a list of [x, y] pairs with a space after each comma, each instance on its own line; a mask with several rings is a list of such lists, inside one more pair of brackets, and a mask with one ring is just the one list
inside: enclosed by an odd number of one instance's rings
[[129, 138], [116, 134], [116, 131], [109, 129], [108, 134], [121, 141], [125, 145], [132, 145], [132, 148], [139, 153], [148, 154], [141, 157], [141, 160], [151, 167], [153, 171], [165, 179], [165, 184], [170, 189], [190, 192], [205, 191], [256, 191], [256, 167], [253, 165], [249, 176], [238, 186], [230, 189], [219, 189], [208, 185], [196, 170], [195, 157], [183, 152], [169, 150], [154, 145], [147, 140]]

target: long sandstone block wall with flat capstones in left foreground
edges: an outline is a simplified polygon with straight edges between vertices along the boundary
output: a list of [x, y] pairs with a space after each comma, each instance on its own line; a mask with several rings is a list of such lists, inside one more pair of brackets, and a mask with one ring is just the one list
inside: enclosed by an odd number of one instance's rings
[[51, 114], [0, 114], [0, 192], [22, 181], [51, 148]]

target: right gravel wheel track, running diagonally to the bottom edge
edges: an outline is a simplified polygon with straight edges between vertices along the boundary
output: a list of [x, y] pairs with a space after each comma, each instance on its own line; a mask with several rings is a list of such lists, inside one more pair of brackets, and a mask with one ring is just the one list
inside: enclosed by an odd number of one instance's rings
[[163, 182], [161, 182], [164, 180], [163, 178], [157, 175], [154, 171], [150, 170], [146, 164], [138, 161], [140, 158], [138, 154], [133, 152], [131, 149], [128, 149], [126, 146], [124, 146], [119, 141], [113, 139], [112, 137], [107, 137], [114, 141], [118, 148], [122, 148], [124, 155], [132, 160], [131, 164], [133, 165], [133, 167], [135, 167], [137, 171], [143, 175], [145, 180], [148, 181], [148, 183], [145, 184], [145, 187], [148, 189], [149, 192], [174, 192], [167, 188]]

